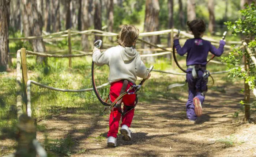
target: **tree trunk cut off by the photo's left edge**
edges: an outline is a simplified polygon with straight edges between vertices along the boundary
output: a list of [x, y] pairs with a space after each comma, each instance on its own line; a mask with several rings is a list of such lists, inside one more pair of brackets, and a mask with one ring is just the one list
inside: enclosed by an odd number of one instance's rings
[[7, 0], [0, 0], [0, 71], [8, 69], [8, 6]]

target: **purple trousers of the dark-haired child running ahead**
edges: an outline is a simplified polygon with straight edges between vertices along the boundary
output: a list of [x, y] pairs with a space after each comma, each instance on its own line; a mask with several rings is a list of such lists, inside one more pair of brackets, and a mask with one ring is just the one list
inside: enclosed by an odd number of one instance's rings
[[207, 80], [203, 78], [204, 70], [198, 70], [197, 78], [193, 78], [192, 69], [187, 69], [187, 82], [188, 82], [188, 102], [186, 104], [187, 117], [189, 120], [196, 120], [195, 106], [193, 104], [194, 97], [199, 98], [203, 104], [205, 96], [204, 91], [207, 91]]

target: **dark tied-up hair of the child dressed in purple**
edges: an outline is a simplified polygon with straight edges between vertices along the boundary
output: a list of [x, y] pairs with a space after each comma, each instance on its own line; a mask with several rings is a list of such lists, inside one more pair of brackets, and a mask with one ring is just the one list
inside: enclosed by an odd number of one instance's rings
[[206, 30], [206, 24], [202, 19], [194, 19], [192, 21], [188, 21], [187, 25], [195, 38], [199, 38], [200, 35]]

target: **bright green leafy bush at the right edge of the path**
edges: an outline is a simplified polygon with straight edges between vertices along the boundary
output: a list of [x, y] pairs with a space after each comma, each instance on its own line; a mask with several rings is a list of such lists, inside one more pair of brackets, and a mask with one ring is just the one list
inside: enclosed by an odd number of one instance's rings
[[[229, 30], [232, 30], [232, 34], [234, 36], [244, 35], [246, 38], [251, 39], [251, 41], [248, 43], [248, 47], [252, 51], [252, 55], [255, 56], [256, 41], [253, 40], [256, 36], [255, 3], [253, 2], [250, 6], [246, 4], [246, 8], [242, 9], [240, 12], [242, 15], [241, 18], [235, 22], [226, 22], [225, 24]], [[243, 62], [243, 55], [246, 57], [249, 68], [245, 69], [238, 67], [236, 69], [232, 69]], [[228, 68], [231, 70], [229, 72], [229, 77], [243, 78], [245, 79], [245, 83], [249, 84], [250, 89], [255, 88], [256, 67], [247, 51], [243, 52], [239, 48], [233, 48], [233, 51], [229, 53], [228, 57], [223, 57], [223, 61], [228, 64]], [[241, 101], [241, 104], [243, 105], [244, 102]]]

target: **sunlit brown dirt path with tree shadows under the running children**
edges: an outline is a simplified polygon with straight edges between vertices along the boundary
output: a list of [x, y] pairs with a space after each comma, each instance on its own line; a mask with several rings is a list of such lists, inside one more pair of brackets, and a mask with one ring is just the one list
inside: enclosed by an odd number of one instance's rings
[[[186, 101], [159, 96], [152, 104], [140, 103], [132, 123], [132, 141], [122, 141], [117, 147], [106, 147], [108, 115], [74, 113], [42, 120], [48, 138], [71, 138], [74, 157], [148, 156], [148, 157], [252, 157], [256, 156], [256, 127], [240, 125], [233, 118], [243, 95], [239, 88], [226, 92], [209, 91], [203, 105], [203, 116], [194, 125], [186, 119]], [[242, 128], [242, 129], [241, 129]], [[69, 136], [70, 135], [70, 136]], [[44, 133], [37, 138], [44, 143]]]

